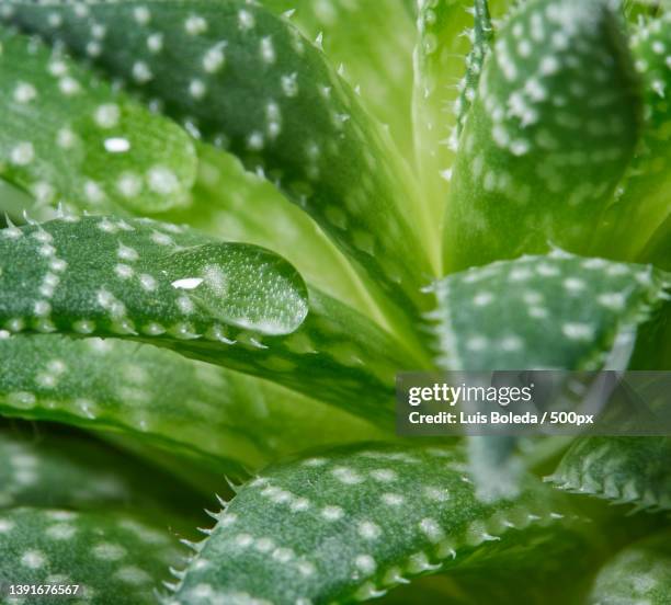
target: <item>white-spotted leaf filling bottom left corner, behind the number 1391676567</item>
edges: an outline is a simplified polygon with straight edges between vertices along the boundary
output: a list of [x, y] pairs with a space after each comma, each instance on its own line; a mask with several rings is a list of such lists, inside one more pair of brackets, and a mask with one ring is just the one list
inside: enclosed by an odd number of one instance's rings
[[180, 558], [177, 539], [128, 514], [0, 511], [0, 536], [5, 590], [10, 584], [78, 584], [81, 603], [110, 603], [111, 595], [120, 605], [156, 603], [157, 581]]

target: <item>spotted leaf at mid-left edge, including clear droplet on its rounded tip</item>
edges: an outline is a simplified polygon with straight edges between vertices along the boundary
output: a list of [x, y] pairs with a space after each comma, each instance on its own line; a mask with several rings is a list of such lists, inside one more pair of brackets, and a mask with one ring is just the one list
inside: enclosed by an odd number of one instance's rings
[[221, 342], [224, 327], [287, 334], [307, 315], [307, 288], [286, 261], [184, 227], [71, 216], [0, 238], [0, 317], [37, 331]]

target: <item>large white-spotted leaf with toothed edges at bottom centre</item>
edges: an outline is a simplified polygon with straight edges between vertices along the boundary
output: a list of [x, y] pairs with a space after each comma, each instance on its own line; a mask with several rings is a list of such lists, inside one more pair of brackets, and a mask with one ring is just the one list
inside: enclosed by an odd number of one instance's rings
[[514, 501], [479, 502], [450, 449], [341, 449], [244, 486], [168, 603], [363, 601], [439, 569], [530, 556], [569, 532], [566, 514], [531, 479]]

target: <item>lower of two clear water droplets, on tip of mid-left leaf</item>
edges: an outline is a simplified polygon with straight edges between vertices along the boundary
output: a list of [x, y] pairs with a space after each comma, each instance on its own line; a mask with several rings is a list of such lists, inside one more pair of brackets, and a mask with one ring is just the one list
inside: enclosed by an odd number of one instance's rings
[[243, 243], [207, 243], [174, 252], [163, 271], [174, 288], [231, 326], [288, 334], [308, 312], [300, 274], [269, 250]]

